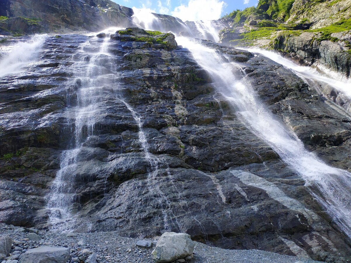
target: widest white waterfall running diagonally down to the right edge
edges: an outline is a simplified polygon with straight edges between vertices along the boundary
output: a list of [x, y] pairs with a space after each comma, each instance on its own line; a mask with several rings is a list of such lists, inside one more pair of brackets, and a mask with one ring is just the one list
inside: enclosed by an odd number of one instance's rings
[[239, 119], [297, 171], [306, 186], [315, 190], [311, 194], [333, 221], [351, 237], [351, 174], [326, 165], [307, 151], [298, 137], [259, 101], [253, 88], [244, 80], [236, 80], [235, 63], [224, 61], [216, 50], [195, 41], [177, 38], [177, 42], [188, 48], [199, 65], [210, 73], [217, 92], [236, 109]]

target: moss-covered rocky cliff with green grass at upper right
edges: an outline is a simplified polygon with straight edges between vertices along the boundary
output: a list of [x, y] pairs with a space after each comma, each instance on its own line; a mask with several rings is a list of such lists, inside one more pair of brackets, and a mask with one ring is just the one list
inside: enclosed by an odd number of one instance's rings
[[261, 0], [222, 18], [220, 42], [277, 49], [350, 76], [351, 1]]

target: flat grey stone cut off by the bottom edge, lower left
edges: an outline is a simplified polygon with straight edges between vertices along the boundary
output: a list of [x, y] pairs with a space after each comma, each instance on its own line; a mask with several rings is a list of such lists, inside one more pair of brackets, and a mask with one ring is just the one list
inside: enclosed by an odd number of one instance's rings
[[20, 256], [19, 263], [66, 263], [69, 248], [47, 247], [28, 249]]

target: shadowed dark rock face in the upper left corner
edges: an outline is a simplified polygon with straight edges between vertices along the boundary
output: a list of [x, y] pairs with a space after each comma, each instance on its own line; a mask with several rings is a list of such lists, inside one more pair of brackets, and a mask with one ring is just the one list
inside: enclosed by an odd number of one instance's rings
[[8, 0], [0, 27], [16, 33], [99, 31], [106, 27], [132, 25], [131, 8], [109, 0]]

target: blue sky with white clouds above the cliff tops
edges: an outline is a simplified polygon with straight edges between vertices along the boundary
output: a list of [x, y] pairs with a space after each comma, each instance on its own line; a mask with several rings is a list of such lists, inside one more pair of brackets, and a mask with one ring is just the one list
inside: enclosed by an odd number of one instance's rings
[[117, 4], [146, 8], [151, 12], [169, 14], [185, 20], [214, 20], [235, 9], [257, 4], [257, 0], [112, 0]]

